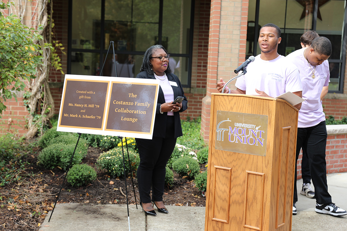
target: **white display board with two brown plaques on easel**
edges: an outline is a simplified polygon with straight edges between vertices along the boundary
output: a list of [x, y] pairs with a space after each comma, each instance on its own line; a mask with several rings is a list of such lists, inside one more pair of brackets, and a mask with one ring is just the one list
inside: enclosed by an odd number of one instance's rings
[[65, 75], [57, 131], [152, 139], [159, 80]]

